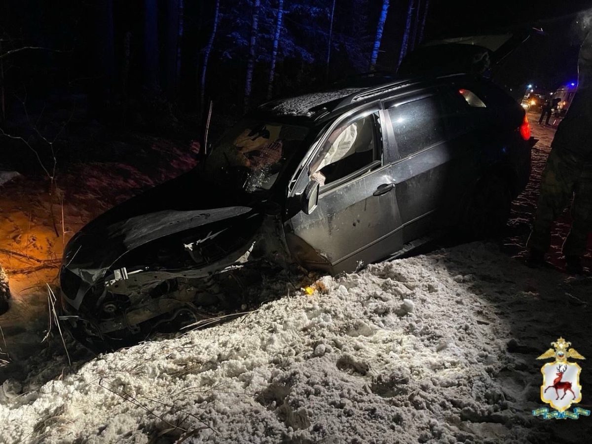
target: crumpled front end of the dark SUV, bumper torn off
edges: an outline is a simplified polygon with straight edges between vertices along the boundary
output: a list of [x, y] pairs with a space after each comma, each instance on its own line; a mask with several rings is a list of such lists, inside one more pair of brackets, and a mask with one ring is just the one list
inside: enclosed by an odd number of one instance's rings
[[179, 320], [197, 320], [198, 305], [240, 300], [262, 270], [288, 262], [278, 214], [159, 213], [81, 233], [67, 246], [61, 318], [86, 345], [112, 349], [178, 329]]

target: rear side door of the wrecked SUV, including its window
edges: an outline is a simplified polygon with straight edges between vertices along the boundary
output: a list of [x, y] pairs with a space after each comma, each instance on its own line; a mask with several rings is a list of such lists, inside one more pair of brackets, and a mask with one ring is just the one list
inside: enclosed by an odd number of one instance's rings
[[391, 176], [407, 243], [451, 222], [446, 210], [462, 195], [466, 144], [447, 137], [440, 91], [385, 101], [385, 112], [397, 147]]

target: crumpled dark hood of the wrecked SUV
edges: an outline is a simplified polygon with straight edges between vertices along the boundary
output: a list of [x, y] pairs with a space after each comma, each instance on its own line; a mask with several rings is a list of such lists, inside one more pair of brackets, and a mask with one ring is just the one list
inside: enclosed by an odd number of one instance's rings
[[[212, 205], [214, 199], [198, 197], [197, 184], [191, 182], [191, 176], [173, 179], [112, 208], [72, 237], [62, 259], [62, 274], [76, 275], [75, 279], [62, 279], [62, 288], [72, 285], [72, 281], [77, 283], [77, 288], [63, 291], [70, 303], [77, 307], [88, 289], [122, 258], [135, 255], [136, 261], [144, 252], [169, 244], [173, 253], [182, 256], [191, 248], [191, 242], [205, 242], [224, 231], [230, 234], [232, 229], [243, 234], [242, 231], [255, 231], [260, 225], [260, 212], [247, 205], [196, 208], [192, 201], [200, 200], [203, 206]], [[202, 194], [208, 193], [202, 190]], [[184, 244], [185, 239], [190, 240]], [[67, 297], [73, 294], [75, 300]]]

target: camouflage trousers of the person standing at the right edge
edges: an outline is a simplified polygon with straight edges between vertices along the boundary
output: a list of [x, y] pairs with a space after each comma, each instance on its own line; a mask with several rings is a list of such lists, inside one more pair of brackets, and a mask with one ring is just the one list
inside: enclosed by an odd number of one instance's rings
[[[589, 143], [590, 141], [588, 141]], [[551, 245], [551, 226], [571, 198], [571, 230], [562, 247], [565, 256], [581, 256], [592, 230], [592, 161], [552, 149], [540, 180], [540, 196], [529, 249], [546, 252]]]

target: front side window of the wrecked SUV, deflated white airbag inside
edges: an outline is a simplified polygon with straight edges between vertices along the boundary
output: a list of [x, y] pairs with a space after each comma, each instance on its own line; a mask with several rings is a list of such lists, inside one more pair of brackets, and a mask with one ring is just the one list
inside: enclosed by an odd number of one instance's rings
[[310, 178], [329, 185], [377, 160], [374, 115], [346, 121], [331, 133], [310, 166]]

